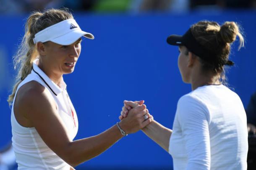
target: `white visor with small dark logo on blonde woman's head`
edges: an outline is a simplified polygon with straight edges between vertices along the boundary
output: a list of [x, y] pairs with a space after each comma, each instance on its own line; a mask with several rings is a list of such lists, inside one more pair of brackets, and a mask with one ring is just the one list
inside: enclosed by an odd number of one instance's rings
[[91, 33], [82, 31], [74, 19], [63, 20], [57, 24], [45, 28], [36, 33], [34, 43], [52, 41], [54, 43], [67, 46], [76, 42], [82, 36], [94, 39]]

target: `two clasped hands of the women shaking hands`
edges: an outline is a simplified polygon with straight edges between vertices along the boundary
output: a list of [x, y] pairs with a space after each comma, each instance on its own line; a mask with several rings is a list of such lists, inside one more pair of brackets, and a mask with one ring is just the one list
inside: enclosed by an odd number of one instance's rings
[[143, 129], [153, 121], [153, 116], [146, 109], [144, 101], [124, 101], [124, 106], [119, 116], [120, 122], [118, 127], [123, 130], [124, 134], [135, 133]]

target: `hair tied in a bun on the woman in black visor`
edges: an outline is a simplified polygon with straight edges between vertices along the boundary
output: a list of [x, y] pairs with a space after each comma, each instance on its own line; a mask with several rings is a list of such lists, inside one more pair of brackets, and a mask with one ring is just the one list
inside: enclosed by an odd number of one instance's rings
[[[238, 50], [244, 46], [244, 38], [235, 22], [226, 21], [223, 25], [212, 21], [199, 21], [191, 26], [191, 32], [196, 40], [208, 51], [212, 53], [210, 61], [200, 58], [204, 70], [211, 70], [215, 73], [222, 73], [224, 66], [232, 66], [234, 63], [229, 61], [230, 44], [238, 36], [240, 45]], [[225, 76], [225, 75], [224, 75]]]

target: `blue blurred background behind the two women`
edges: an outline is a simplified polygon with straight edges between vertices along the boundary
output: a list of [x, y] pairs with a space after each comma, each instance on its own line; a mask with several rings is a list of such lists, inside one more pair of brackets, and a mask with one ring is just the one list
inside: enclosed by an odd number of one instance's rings
[[[255, 0], [0, 0], [0, 150], [11, 140], [11, 93], [16, 71], [12, 56], [24, 35], [29, 12], [68, 7], [94, 40], [82, 41], [73, 74], [65, 75], [76, 108], [76, 139], [99, 134], [118, 121], [123, 100], [145, 100], [154, 119], [172, 128], [178, 99], [191, 91], [178, 71], [178, 47], [170, 34], [183, 34], [199, 20], [239, 23], [245, 48], [232, 46], [235, 66], [227, 69], [232, 88], [247, 106], [256, 91]], [[254, 50], [253, 50], [254, 49]], [[171, 156], [142, 132], [122, 138], [113, 147], [76, 169], [172, 170]]]

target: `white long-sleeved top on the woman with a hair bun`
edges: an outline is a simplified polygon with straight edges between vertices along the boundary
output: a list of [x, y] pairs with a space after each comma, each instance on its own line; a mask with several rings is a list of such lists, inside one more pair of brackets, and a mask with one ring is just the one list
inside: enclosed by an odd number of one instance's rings
[[170, 137], [174, 170], [246, 170], [248, 132], [239, 96], [224, 85], [182, 96]]

